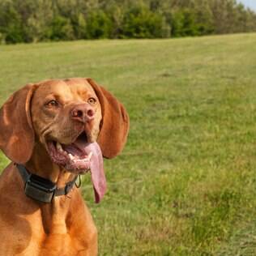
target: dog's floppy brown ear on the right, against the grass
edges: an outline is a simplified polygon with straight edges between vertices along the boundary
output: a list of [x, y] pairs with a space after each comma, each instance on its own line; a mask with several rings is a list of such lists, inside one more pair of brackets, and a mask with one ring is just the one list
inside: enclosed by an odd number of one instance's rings
[[92, 79], [87, 79], [100, 100], [102, 121], [97, 142], [102, 155], [106, 158], [117, 156], [125, 146], [129, 116], [124, 106], [104, 87], [97, 85]]

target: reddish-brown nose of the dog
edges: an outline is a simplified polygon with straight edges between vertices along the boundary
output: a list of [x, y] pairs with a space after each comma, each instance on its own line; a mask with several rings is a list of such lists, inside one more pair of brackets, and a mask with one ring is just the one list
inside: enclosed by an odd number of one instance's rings
[[76, 105], [71, 110], [71, 118], [83, 123], [90, 122], [94, 118], [94, 110], [87, 103]]

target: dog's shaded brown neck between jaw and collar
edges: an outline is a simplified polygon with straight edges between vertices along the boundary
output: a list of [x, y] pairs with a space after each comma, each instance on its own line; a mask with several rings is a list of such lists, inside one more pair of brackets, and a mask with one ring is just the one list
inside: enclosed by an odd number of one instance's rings
[[65, 186], [68, 181], [75, 177], [75, 174], [67, 172], [66, 169], [57, 164], [53, 164], [41, 143], [35, 144], [31, 159], [24, 165], [30, 173], [49, 179], [56, 183], [58, 187]]

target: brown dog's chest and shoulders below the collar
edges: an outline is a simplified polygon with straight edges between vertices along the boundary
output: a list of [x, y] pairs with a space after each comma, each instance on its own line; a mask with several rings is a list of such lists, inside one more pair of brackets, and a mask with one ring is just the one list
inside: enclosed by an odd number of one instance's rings
[[9, 191], [16, 196], [6, 200], [10, 186], [0, 180], [0, 205], [11, 206], [0, 207], [0, 256], [97, 254], [96, 227], [77, 189], [70, 197], [54, 200], [52, 205], [39, 205], [18, 193], [18, 189], [21, 190], [15, 186], [14, 191]]

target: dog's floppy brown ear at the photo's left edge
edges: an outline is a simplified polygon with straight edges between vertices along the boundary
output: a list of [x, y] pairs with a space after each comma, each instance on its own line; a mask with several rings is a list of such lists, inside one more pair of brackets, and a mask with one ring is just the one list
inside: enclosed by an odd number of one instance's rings
[[35, 86], [28, 84], [15, 92], [0, 109], [0, 149], [18, 164], [32, 156], [35, 134], [30, 116], [30, 102]]

